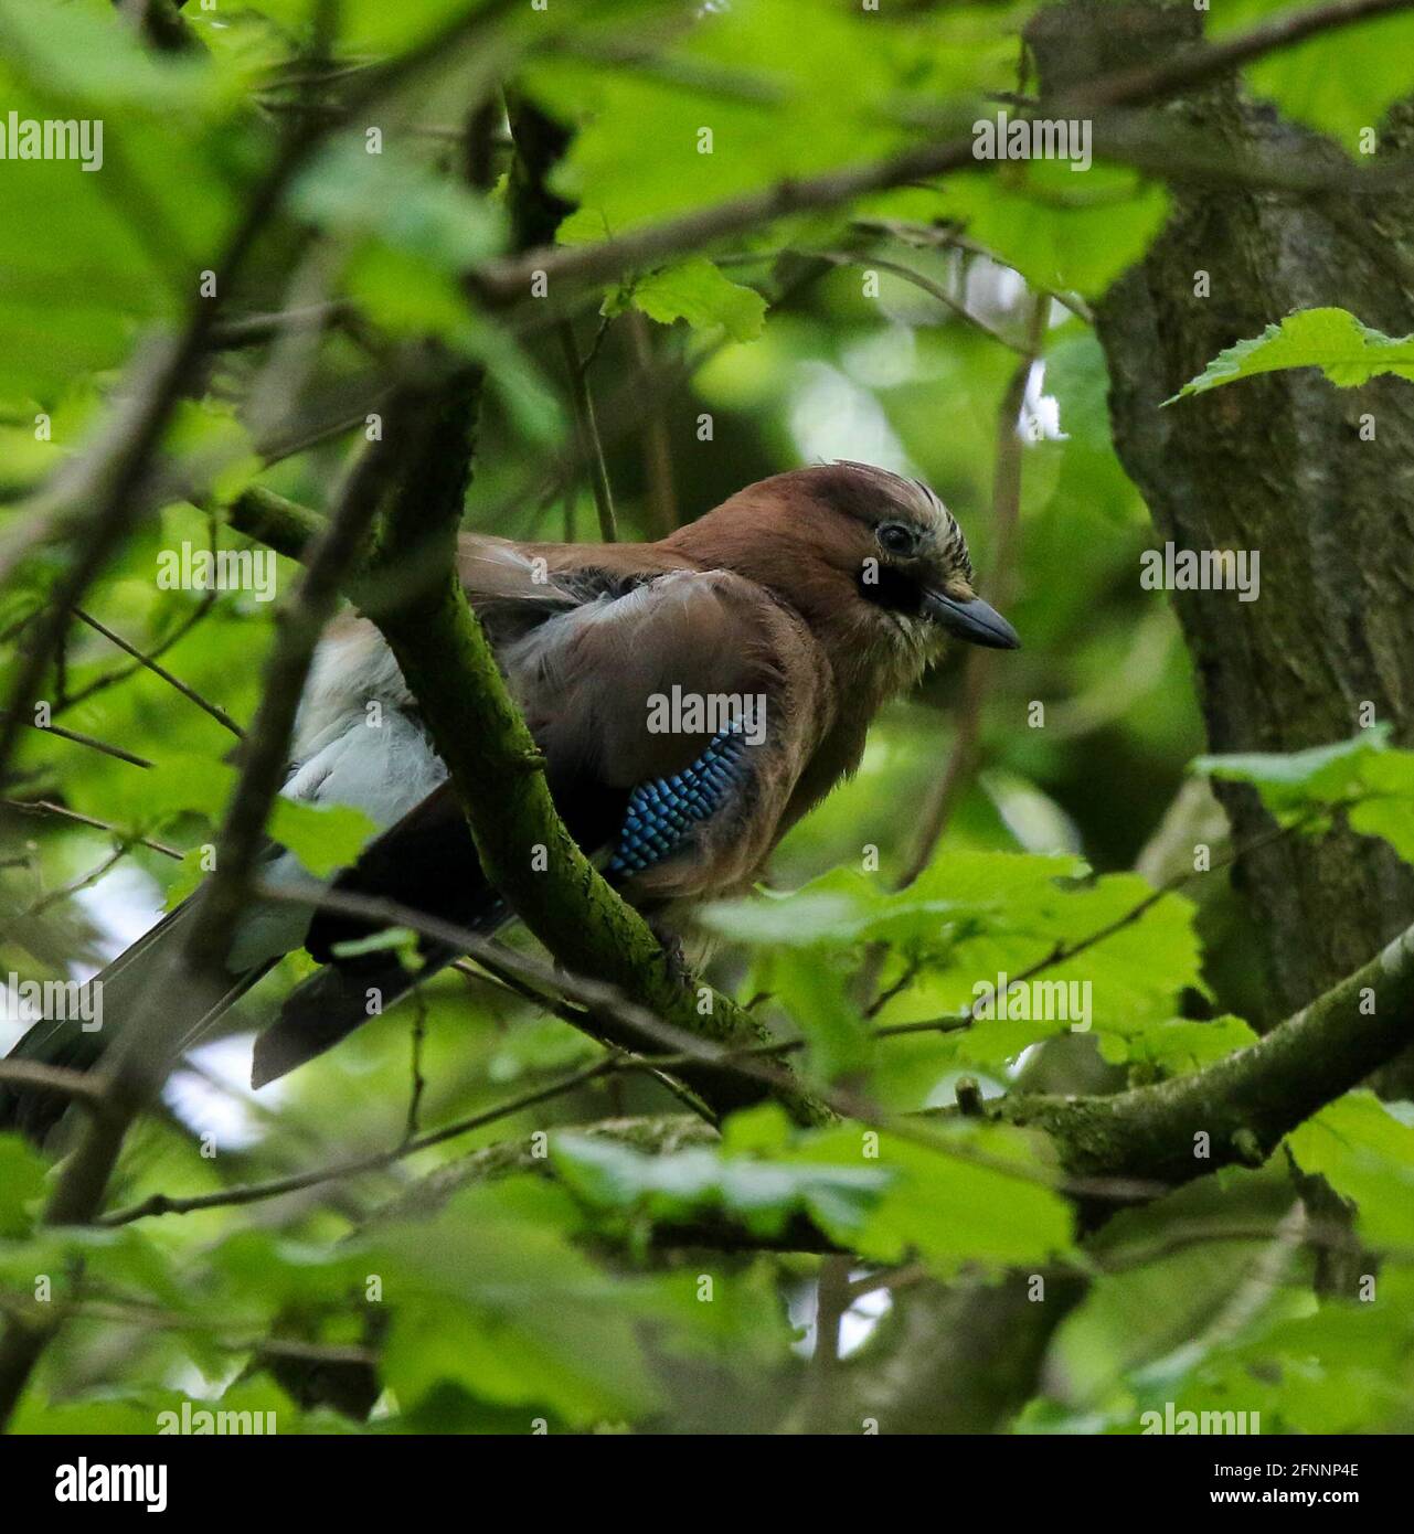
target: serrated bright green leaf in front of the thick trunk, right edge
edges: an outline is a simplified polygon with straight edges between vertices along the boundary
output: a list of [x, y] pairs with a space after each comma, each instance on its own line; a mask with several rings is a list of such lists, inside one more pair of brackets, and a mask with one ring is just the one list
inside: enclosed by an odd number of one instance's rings
[[1320, 368], [1342, 388], [1368, 384], [1382, 373], [1414, 379], [1414, 336], [1385, 336], [1343, 308], [1305, 308], [1268, 325], [1261, 336], [1219, 351], [1164, 403], [1284, 368]]

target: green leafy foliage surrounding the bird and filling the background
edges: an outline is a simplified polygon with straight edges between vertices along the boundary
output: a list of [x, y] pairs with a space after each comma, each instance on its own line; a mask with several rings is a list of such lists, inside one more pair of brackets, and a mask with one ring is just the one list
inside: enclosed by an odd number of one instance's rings
[[[127, 1137], [118, 1223], [43, 1221], [78, 1114], [44, 1154], [0, 1137], [0, 1305], [63, 1321], [15, 1431], [150, 1434], [163, 1413], [213, 1407], [273, 1413], [281, 1433], [799, 1427], [830, 1264], [850, 1285], [839, 1338], [862, 1339], [830, 1376], [842, 1401], [934, 1359], [951, 1384], [974, 1333], [929, 1322], [919, 1299], [946, 1284], [998, 1310], [1023, 1292], [1026, 1324], [1052, 1327], [1029, 1399], [980, 1427], [1136, 1431], [1173, 1404], [1261, 1411], [1267, 1431], [1408, 1431], [1408, 1104], [1350, 1094], [1290, 1137], [1351, 1227], [1313, 1215], [1301, 1232], [1285, 1157], [1139, 1209], [1126, 1195], [1100, 1235], [1081, 1232], [1051, 1143], [977, 1112], [1182, 1077], [1256, 1040], [1250, 931], [1225, 874], [1132, 871], [1152, 868], [1202, 732], [1179, 630], [1135, 578], [1147, 512], [1112, 446], [1081, 296], [1103, 299], [1150, 247], [1167, 190], [1118, 163], [1080, 175], [1038, 160], [966, 161], [853, 201], [790, 196], [965, 141], [998, 95], [1029, 89], [1018, 34], [1035, 8], [345, 0], [322, 37], [325, 8], [307, 0], [224, 0], [183, 8], [189, 46], [173, 51], [144, 41], [133, 9], [0, 3], [6, 110], [104, 126], [100, 173], [0, 161], [9, 670], [86, 534], [51, 529], [48, 497], [121, 437], [198, 304], [232, 328], [161, 419], [156, 489], [86, 609], [242, 726], [298, 571], [276, 561], [267, 601], [172, 589], [164, 557], [253, 554], [227, 511], [256, 479], [328, 506], [390, 377], [442, 354], [488, 373], [466, 525], [597, 537], [561, 325], [623, 535], [658, 535], [801, 462], [886, 463], [957, 512], [983, 580], [1011, 588], [998, 601], [1026, 649], [994, 667], [971, 719], [959, 657], [886, 710], [770, 887], [709, 908], [693, 934], [710, 940], [707, 977], [791, 1046], [782, 1058], [837, 1124], [801, 1131], [767, 1106], [712, 1127], [621, 1058], [590, 1078], [600, 1043], [466, 974], [253, 1097], [250, 1032], [307, 968], [293, 956]], [[1213, 34], [1273, 6], [1218, 9]], [[1408, 91], [1411, 25], [1274, 52], [1247, 86], [1360, 153], [1360, 130]], [[581, 287], [557, 279], [540, 308], [486, 301], [524, 213], [498, 110], [489, 173], [468, 173], [468, 104], [492, 80], [508, 123], [540, 112], [564, 140], [540, 189], [561, 255], [682, 218], [701, 238]], [[261, 207], [238, 281], [204, 295], [291, 127], [313, 133], [308, 156]], [[753, 195], [779, 212], [715, 224]], [[1414, 350], [1343, 308], [1308, 310], [1182, 396], [1291, 367], [1351, 387], [1414, 376]], [[1015, 537], [989, 514], [1008, 469]], [[29, 808], [0, 808], [0, 969], [64, 982], [199, 882], [238, 769], [209, 712], [83, 624], [44, 689], [57, 729], [21, 732], [6, 785]], [[959, 775], [926, 856], [949, 762], [980, 770]], [[1195, 767], [1250, 784], [1285, 825], [1324, 834], [1343, 818], [1414, 861], [1414, 753], [1379, 729]], [[265, 830], [324, 876], [370, 824], [281, 801]], [[985, 1016], [988, 994], [1017, 1005]], [[6, 1006], [0, 1042], [23, 1023]], [[416, 1140], [425, 1129], [446, 1137]], [[1343, 1252], [1351, 1232], [1354, 1279], [1317, 1273], [1313, 1253]], [[1074, 1310], [1069, 1284], [1084, 1289]], [[922, 1394], [932, 1410], [945, 1391]]]

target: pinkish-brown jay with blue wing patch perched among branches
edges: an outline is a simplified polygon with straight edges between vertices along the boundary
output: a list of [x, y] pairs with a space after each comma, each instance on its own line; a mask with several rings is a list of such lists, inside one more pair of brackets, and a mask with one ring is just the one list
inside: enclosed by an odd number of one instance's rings
[[[850, 460], [759, 480], [652, 543], [462, 534], [457, 569], [567, 830], [666, 931], [696, 902], [751, 887], [781, 838], [857, 769], [880, 706], [949, 640], [1020, 644], [977, 595], [962, 526], [939, 495]], [[478, 934], [512, 917], [393, 653], [356, 611], [314, 649], [281, 792], [373, 821], [334, 890]], [[275, 885], [308, 879], [278, 847], [261, 873]], [[255, 1042], [252, 1083], [264, 1086], [459, 957], [425, 940], [414, 977], [386, 950], [336, 953], [379, 925], [345, 910], [253, 904], [224, 957], [230, 986], [190, 1003], [187, 1040], [304, 946], [321, 968]], [[95, 977], [101, 1032], [138, 1005], [190, 913], [187, 900]], [[84, 1069], [101, 1040], [41, 1020], [12, 1054]], [[52, 1092], [0, 1086], [0, 1126], [41, 1135], [61, 1109]]]

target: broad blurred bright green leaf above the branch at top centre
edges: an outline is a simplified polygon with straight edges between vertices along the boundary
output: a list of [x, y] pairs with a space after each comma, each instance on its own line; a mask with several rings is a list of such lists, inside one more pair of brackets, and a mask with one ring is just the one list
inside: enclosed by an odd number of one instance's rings
[[560, 238], [620, 236], [916, 143], [900, 107], [917, 100], [936, 110], [1003, 89], [1014, 25], [1008, 8], [900, 14], [879, 26], [833, 0], [735, 0], [684, 14], [650, 61], [606, 69], [544, 49], [521, 83], [577, 129], [552, 178], [580, 204]]

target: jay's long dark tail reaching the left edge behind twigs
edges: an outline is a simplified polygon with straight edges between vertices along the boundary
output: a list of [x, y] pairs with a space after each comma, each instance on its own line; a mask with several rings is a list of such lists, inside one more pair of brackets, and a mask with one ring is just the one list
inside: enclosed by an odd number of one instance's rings
[[[183, 980], [172, 983], [167, 996], [156, 996], [155, 985], [161, 985], [164, 976], [178, 973], [169, 963], [187, 940], [192, 911], [190, 900], [169, 911], [92, 980], [84, 982], [78, 1006], [64, 1008], [69, 1016], [41, 1017], [15, 1043], [8, 1058], [90, 1071], [144, 1006], [161, 1006], [167, 1014], [164, 1039], [181, 1049], [195, 1043], [275, 960], [232, 974], [229, 983], [212, 986], [199, 980]], [[41, 1141], [67, 1106], [69, 1098], [63, 1092], [0, 1081], [0, 1129], [18, 1129]]]

